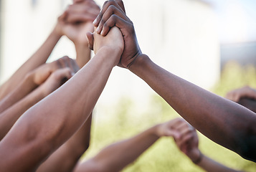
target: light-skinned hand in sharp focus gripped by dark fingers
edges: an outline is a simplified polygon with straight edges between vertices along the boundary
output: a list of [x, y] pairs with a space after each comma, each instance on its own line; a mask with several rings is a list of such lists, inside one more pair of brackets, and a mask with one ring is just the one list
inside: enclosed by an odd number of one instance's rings
[[94, 52], [97, 54], [100, 49], [107, 49], [110, 52], [115, 52], [111, 57], [116, 57], [115, 65], [118, 65], [120, 56], [123, 53], [123, 37], [120, 30], [117, 27], [110, 29], [110, 32], [106, 37], [94, 32], [93, 34], [87, 32], [87, 39], [89, 44], [93, 44]]

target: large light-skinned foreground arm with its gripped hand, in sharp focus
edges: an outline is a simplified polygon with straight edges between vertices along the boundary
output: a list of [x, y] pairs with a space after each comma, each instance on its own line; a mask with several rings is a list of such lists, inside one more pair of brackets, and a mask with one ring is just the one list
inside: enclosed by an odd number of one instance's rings
[[94, 40], [95, 57], [60, 89], [27, 110], [1, 140], [1, 171], [34, 171], [85, 123], [123, 52], [118, 28], [111, 29], [108, 37], [95, 34]]

